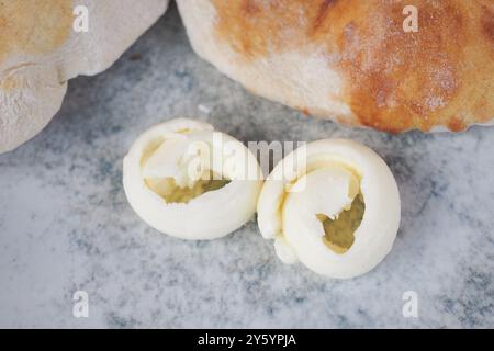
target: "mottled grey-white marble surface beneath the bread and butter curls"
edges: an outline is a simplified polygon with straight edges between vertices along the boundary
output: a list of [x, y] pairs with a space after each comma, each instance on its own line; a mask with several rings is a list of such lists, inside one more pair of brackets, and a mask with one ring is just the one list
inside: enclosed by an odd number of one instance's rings
[[[179, 116], [245, 141], [372, 147], [401, 191], [394, 249], [371, 273], [332, 281], [282, 264], [255, 222], [211, 242], [153, 230], [125, 200], [122, 158], [142, 131]], [[192, 53], [173, 7], [0, 156], [0, 327], [494, 327], [493, 145], [492, 127], [391, 136], [254, 97]], [[88, 318], [72, 316], [76, 291], [89, 294]], [[417, 318], [402, 314], [405, 291]]]

